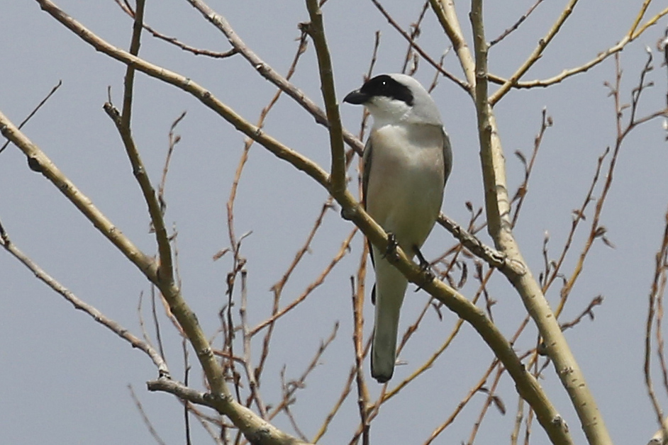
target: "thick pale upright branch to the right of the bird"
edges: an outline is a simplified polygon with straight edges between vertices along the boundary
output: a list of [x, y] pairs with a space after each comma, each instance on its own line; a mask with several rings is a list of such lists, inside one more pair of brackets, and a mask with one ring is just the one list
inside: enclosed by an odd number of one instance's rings
[[[486, 73], [488, 72], [488, 46], [485, 40], [481, 0], [472, 1], [470, 18], [474, 35], [475, 73], [477, 80], [475, 104], [483, 167], [487, 229], [497, 249], [508, 255], [511, 261], [525, 264], [519, 246], [513, 236], [511, 221], [509, 219], [511, 209], [506, 181], [505, 157], [503, 156], [501, 140], [499, 140], [496, 118], [491, 108], [493, 102], [491, 99], [488, 99], [488, 81], [486, 77]], [[556, 29], [558, 29], [558, 26], [553, 28], [555, 33]], [[605, 424], [601, 419], [599, 409], [596, 406], [596, 401], [586, 385], [584, 375], [577, 361], [575, 361], [566, 339], [564, 339], [564, 335], [552, 314], [552, 310], [550, 310], [550, 305], [545, 300], [545, 295], [542, 294], [538, 282], [535, 281], [528, 268], [525, 269], [524, 274], [518, 276], [508, 275], [508, 280], [518, 291], [525, 308], [538, 326], [540, 334], [545, 338], [547, 352], [555, 363], [557, 376], [561, 379], [562, 385], [564, 385], [572, 400], [587, 438], [592, 444], [610, 443], [610, 438]], [[504, 365], [507, 367], [505, 363]], [[572, 439], [566, 429], [564, 429], [563, 422], [555, 422], [555, 419], [559, 415], [554, 413], [550, 417], [545, 417], [545, 412], [540, 412], [536, 409], [535, 405], [531, 405], [536, 411], [538, 421], [552, 441], [572, 443]], [[560, 416], [559, 418], [562, 419]]]

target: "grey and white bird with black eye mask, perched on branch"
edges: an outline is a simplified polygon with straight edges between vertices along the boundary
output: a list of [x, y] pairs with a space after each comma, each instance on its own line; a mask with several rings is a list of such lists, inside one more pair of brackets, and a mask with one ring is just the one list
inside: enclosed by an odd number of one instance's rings
[[[347, 94], [345, 103], [362, 105], [374, 123], [362, 156], [362, 205], [408, 257], [416, 255], [440, 212], [452, 169], [450, 138], [436, 103], [406, 74], [380, 74]], [[374, 333], [371, 374], [386, 383], [394, 373], [399, 312], [408, 281], [386, 252], [369, 243], [376, 283], [372, 288]]]

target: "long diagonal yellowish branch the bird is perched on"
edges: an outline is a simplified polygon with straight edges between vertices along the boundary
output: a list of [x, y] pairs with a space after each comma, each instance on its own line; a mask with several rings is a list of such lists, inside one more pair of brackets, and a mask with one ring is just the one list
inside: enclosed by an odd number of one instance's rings
[[[48, 0], [40, 0], [40, 4], [44, 6], [50, 4], [50, 2]], [[474, 1], [474, 6], [475, 5], [477, 5], [476, 1]], [[45, 8], [48, 9], [48, 6], [46, 6]], [[479, 16], [481, 18], [481, 11], [474, 11], [473, 16], [476, 16], [477, 13], [479, 13]], [[190, 94], [193, 94], [195, 97], [199, 98], [206, 106], [213, 108], [214, 111], [218, 112], [221, 116], [226, 118], [226, 120], [233, 123], [233, 125], [235, 125], [235, 127], [238, 128], [239, 130], [243, 131], [243, 133], [245, 133], [249, 137], [254, 137], [256, 140], [262, 143], [262, 145], [265, 145], [265, 147], [274, 152], [274, 154], [277, 154], [277, 156], [282, 157], [283, 159], [289, 159], [289, 162], [295, 165], [295, 167], [307, 171], [307, 173], [311, 175], [314, 179], [316, 179], [316, 181], [318, 181], [321, 185], [328, 187], [329, 185], [328, 182], [330, 178], [317, 165], [310, 162], [309, 159], [301, 157], [301, 155], [296, 154], [295, 152], [289, 150], [287, 147], [280, 145], [277, 141], [273, 140], [271, 137], [268, 137], [267, 135], [262, 133], [262, 131], [256, 126], [247, 123], [245, 120], [243, 120], [243, 118], [240, 118], [240, 116], [236, 115], [230, 108], [226, 107], [216, 98], [213, 98], [213, 96], [211, 96], [211, 94], [208, 91], [202, 89], [201, 86], [195, 84], [192, 81], [186, 81], [185, 79], [182, 79], [182, 77], [179, 77], [178, 74], [174, 74], [168, 72], [167, 70], [160, 69], [160, 67], [155, 67], [155, 65], [148, 64], [147, 62], [139, 59], [138, 57], [130, 57], [131, 55], [128, 55], [128, 53], [115, 50], [113, 47], [111, 47], [111, 45], [107, 45], [106, 43], [99, 41], [99, 39], [96, 40], [96, 38], [91, 38], [91, 33], [89, 33], [88, 30], [85, 30], [85, 28], [82, 27], [75, 26], [74, 21], [70, 20], [69, 18], [59, 16], [59, 14], [57, 13], [55, 13], [54, 16], [59, 20], [61, 20], [62, 23], [64, 23], [70, 29], [76, 30], [77, 35], [80, 35], [84, 40], [87, 40], [87, 42], [91, 43], [91, 45], [94, 45], [96, 49], [104, 51], [106, 54], [116, 58], [117, 60], [121, 60], [121, 62], [123, 63], [132, 64], [133, 67], [135, 67], [136, 69], [140, 69], [152, 77], [156, 77], [163, 81], [167, 81], [168, 83], [174, 84], [175, 86], [184, 89], [184, 91], [188, 91]], [[447, 18], [447, 11], [445, 13], [445, 17]], [[450, 23], [450, 27], [452, 30], [452, 23]], [[481, 28], [479, 29], [481, 30]], [[474, 33], [474, 35], [477, 35], [477, 32]], [[480, 35], [481, 38], [484, 39], [484, 33], [480, 33]], [[478, 39], [479, 37], [476, 38]], [[480, 48], [481, 46], [477, 45], [477, 47]], [[458, 48], [458, 50], [462, 51], [461, 45]], [[479, 53], [477, 52], [477, 55], [478, 54]], [[482, 101], [485, 101], [486, 103], [487, 100], [486, 80], [481, 81], [483, 77], [486, 76], [485, 74], [486, 67], [481, 65], [480, 67], [481, 69], [477, 70], [478, 75], [481, 77], [477, 79], [478, 82], [476, 86], [477, 88], [476, 96], [477, 100], [480, 101], [480, 99], [482, 98]], [[465, 72], [467, 72], [467, 78], [469, 74], [472, 74], [474, 72], [474, 69], [471, 64], [467, 64]], [[330, 100], [332, 100], [331, 96]], [[480, 101], [480, 103], [482, 103], [482, 101]], [[486, 103], [486, 106], [489, 106], [489, 103]], [[487, 113], [487, 112], [488, 110], [483, 109], [482, 107], [479, 108], [479, 113]], [[484, 122], [484, 118], [481, 119], [481, 122]], [[489, 135], [491, 137], [491, 133], [496, 128], [496, 123], [494, 123], [493, 118], [491, 118], [491, 121], [487, 120], [487, 124], [488, 125], [481, 125], [481, 132], [489, 131]], [[486, 149], [484, 148], [483, 150]], [[503, 173], [502, 170], [499, 170], [498, 172], [499, 174]], [[494, 181], [494, 184], [505, 186], [505, 177], [501, 177], [498, 183]], [[360, 227], [365, 234], [367, 234], [367, 236], [369, 236], [369, 239], [371, 240], [372, 243], [374, 243], [374, 245], [377, 245], [379, 247], [384, 247], [387, 243], [386, 235], [380, 229], [380, 227], [378, 227], [378, 225], [375, 224], [374, 221], [370, 220], [368, 215], [364, 213], [362, 208], [360, 208], [359, 203], [357, 203], [357, 201], [355, 201], [355, 199], [352, 198], [352, 196], [350, 196], [350, 193], [343, 191], [339, 193], [338, 190], [334, 191], [335, 191], [335, 193], [333, 193], [334, 197], [343, 206], [344, 210], [348, 212], [347, 215], [350, 216], [350, 219], [353, 220], [355, 224], [358, 227]], [[506, 192], [503, 191], [503, 193]], [[507, 204], [507, 193], [505, 198]], [[497, 209], [498, 208], [499, 207], [497, 207]], [[503, 218], [507, 218], [507, 216], [503, 216]], [[499, 224], [496, 227], [491, 228], [492, 232], [499, 229], [498, 226], [500, 225], [500, 220], [497, 221], [497, 223]], [[490, 225], [492, 225], [492, 223], [490, 223]], [[396, 261], [396, 266], [399, 267], [399, 269], [404, 274], [406, 274], [406, 276], [408, 276], [408, 278], [411, 281], [423, 284], [425, 281], [424, 274], [418, 269], [418, 267], [415, 264], [412, 264], [411, 261], [409, 261], [409, 259], [406, 257], [405, 254], [403, 254], [403, 252], [401, 252], [401, 250], [398, 250], [397, 253], [399, 259]], [[514, 255], [515, 252], [512, 253]], [[521, 257], [519, 256], [516, 256], [514, 258], [517, 258], [518, 261], [521, 260]], [[519, 278], [520, 279], [530, 278], [530, 276], [519, 277]], [[559, 415], [557, 415], [554, 407], [552, 407], [549, 404], [549, 402], [547, 402], [545, 395], [542, 393], [542, 390], [540, 389], [540, 386], [538, 386], [538, 383], [535, 381], [535, 379], [532, 378], [530, 375], [528, 375], [528, 373], [526, 373], [526, 370], [523, 368], [521, 361], [519, 361], [517, 355], [513, 351], [511, 344], [509, 344], [506, 341], [506, 339], [503, 338], [501, 332], [499, 332], [499, 330], [496, 329], [496, 327], [491, 323], [491, 320], [489, 320], [485, 316], [484, 312], [476, 308], [466, 298], [464, 298], [463, 295], [457, 293], [457, 291], [450, 288], [449, 286], [446, 286], [444, 283], [430, 282], [423, 284], [423, 287], [427, 291], [435, 295], [437, 298], [439, 298], [440, 301], [448, 305], [448, 307], [451, 310], [455, 311], [458, 315], [460, 315], [460, 317], [463, 317], [465, 320], [471, 322], [471, 324], [474, 325], [474, 327], [476, 327], [477, 331], [490, 345], [490, 347], [494, 349], [495, 353], [499, 356], [501, 361], [503, 361], [504, 366], [508, 368], [508, 371], [511, 373], [511, 376], [513, 376], [513, 379], [516, 381], [518, 385], [519, 392], [523, 395], [523, 397], [527, 398], [530, 404], [537, 410], [538, 418], [541, 420], [541, 422], [544, 425], [545, 422], [551, 422], [551, 424], [555, 424], [555, 422], [558, 419], [560, 419], [560, 417]], [[177, 289], [162, 288], [162, 291], [163, 293], [167, 293], [166, 298], [172, 298], [174, 296], [177, 296], [177, 294], [179, 294], [177, 292], [178, 291]], [[539, 295], [539, 297], [542, 296], [540, 295], [540, 290], [538, 293], [536, 293], [536, 295]], [[170, 304], [172, 303], [174, 303], [174, 300], [170, 302]], [[177, 315], [177, 317], [179, 316], [184, 318], [183, 314]], [[182, 318], [179, 319], [179, 322], [182, 322]], [[182, 324], [184, 324], [184, 322], [182, 322]], [[187, 325], [188, 328], [191, 329], [193, 328], [193, 326], [189, 325], [187, 322], [185, 324]], [[189, 336], [192, 333], [193, 332], [188, 332]], [[196, 347], [196, 351], [200, 359], [204, 360], [202, 354], [208, 352], [208, 350], [202, 350]], [[211, 379], [215, 377], [211, 375], [211, 371], [214, 369], [215, 369], [214, 366], [211, 366], [208, 369], [205, 366], [208, 378]], [[218, 383], [218, 385], [212, 384], [213, 393], [216, 394], [213, 397], [220, 398], [221, 393], [219, 393], [218, 390], [220, 390], [223, 387], [223, 384], [220, 381], [216, 383]], [[230, 403], [231, 406], [234, 406], [233, 400], [228, 400], [228, 402]], [[238, 412], [235, 412], [235, 414], [238, 414]], [[238, 417], [235, 418], [234, 420], [235, 422], [237, 422]], [[552, 427], [552, 429], [550, 429], [550, 427], [546, 427], [546, 429], [548, 429], [548, 431], [552, 431], [552, 433], [555, 434], [555, 436], [559, 436], [561, 439], [564, 439], [565, 434], [562, 431], [562, 424], [560, 424], [559, 422], [557, 422], [556, 426]]]

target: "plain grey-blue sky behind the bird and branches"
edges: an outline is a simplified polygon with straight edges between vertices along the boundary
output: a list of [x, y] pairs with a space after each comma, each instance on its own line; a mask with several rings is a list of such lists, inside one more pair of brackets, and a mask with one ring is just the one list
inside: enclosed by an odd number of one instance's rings
[[[564, 1], [544, 2], [530, 20], [489, 56], [491, 71], [507, 77], [525, 60], [551, 26]], [[555, 42], [525, 79], [551, 77], [578, 66], [611, 47], [630, 28], [641, 1], [591, 0], [577, 5]], [[132, 22], [111, 0], [58, 2], [67, 13], [94, 33], [118, 47], [127, 48]], [[488, 40], [495, 38], [525, 13], [533, 0], [487, 2]], [[386, 1], [386, 8], [403, 26], [416, 20], [422, 2]], [[226, 16], [237, 33], [278, 72], [285, 73], [296, 50], [297, 24], [308, 20], [301, 1], [214, 1], [210, 6]], [[457, 5], [469, 36], [467, 2]], [[664, 4], [655, 1], [647, 17]], [[340, 98], [360, 86], [372, 53], [374, 32], [382, 32], [376, 73], [397, 72], [403, 65], [406, 43], [392, 30], [370, 1], [330, 0], [324, 7], [325, 30], [332, 52], [337, 94]], [[187, 1], [147, 1], [145, 21], [189, 45], [210, 50], [229, 49], [224, 36], [204, 21]], [[111, 86], [121, 106], [125, 66], [95, 52], [76, 35], [40, 11], [34, 1], [5, 1], [0, 18], [0, 110], [18, 124], [62, 79], [62, 87], [24, 131], [53, 162], [91, 197], [113, 223], [147, 253], [155, 252], [148, 233], [148, 218], [140, 191], [113, 123], [102, 110]], [[622, 53], [623, 98], [638, 83], [645, 64], [645, 47], [655, 48], [666, 20], [650, 28]], [[469, 40], [470, 41], [470, 40]], [[448, 42], [433, 14], [428, 12], [419, 40], [435, 59]], [[659, 54], [655, 52], [658, 57]], [[140, 56], [149, 62], [184, 74], [210, 89], [238, 113], [255, 122], [274, 94], [274, 87], [259, 77], [240, 56], [211, 60], [182, 52], [145, 35]], [[322, 103], [313, 46], [294, 76], [294, 84], [316, 103]], [[657, 58], [657, 60], [659, 60]], [[658, 68], [658, 64], [655, 64]], [[460, 76], [454, 55], [446, 67]], [[521, 183], [523, 169], [515, 150], [529, 154], [540, 127], [540, 111], [555, 125], [542, 143], [533, 180], [516, 235], [523, 254], [538, 275], [542, 268], [542, 240], [550, 233], [550, 254], [556, 257], [571, 225], [571, 211], [581, 205], [596, 158], [613, 145], [616, 136], [613, 102], [603, 81], [613, 81], [613, 59], [586, 74], [549, 89], [513, 91], [496, 106], [508, 184]], [[418, 79], [430, 84], [433, 69], [421, 62]], [[650, 74], [657, 82], [642, 99], [640, 113], [665, 106], [664, 69]], [[177, 133], [177, 146], [167, 184], [166, 220], [178, 229], [179, 264], [184, 295], [207, 332], [218, 327], [218, 310], [224, 299], [229, 259], [211, 257], [227, 247], [225, 203], [243, 147], [243, 137], [191, 96], [138, 74], [135, 88], [133, 131], [149, 174], [157, 184], [167, 150], [169, 125], [183, 111], [187, 117]], [[483, 204], [474, 108], [452, 82], [441, 79], [433, 97], [450, 133], [455, 157], [443, 210], [467, 223], [465, 201]], [[361, 108], [341, 107], [345, 126], [359, 129]], [[616, 245], [597, 242], [574, 288], [563, 320], [571, 320], [596, 295], [606, 299], [596, 308], [596, 320], [586, 320], [566, 337], [583, 368], [603, 419], [618, 444], [646, 443], [657, 429], [643, 384], [642, 360], [647, 294], [654, 257], [664, 227], [668, 203], [668, 147], [659, 120], [631, 135], [618, 161], [613, 187], [601, 223]], [[289, 147], [329, 167], [328, 135], [289, 98], [281, 101], [267, 119], [266, 131]], [[253, 147], [239, 189], [235, 223], [238, 235], [252, 230], [243, 242], [248, 259], [249, 317], [251, 325], [263, 320], [271, 308], [269, 287], [282, 276], [289, 261], [306, 239], [326, 193], [300, 171]], [[10, 146], [0, 154], [0, 220], [13, 242], [49, 274], [95, 305], [109, 317], [139, 334], [137, 305], [147, 295], [147, 282], [137, 270], [79, 215], [77, 210], [42, 176], [30, 171], [23, 154]], [[352, 225], [330, 211], [313, 241], [311, 254], [296, 271], [284, 293], [292, 300], [328, 264]], [[583, 227], [584, 229], [584, 227]], [[576, 237], [565, 264], [570, 273], [585, 230]], [[484, 240], [489, 242], [485, 235]], [[452, 245], [447, 232], [435, 229], [425, 247], [435, 256]], [[286, 364], [287, 378], [304, 370], [321, 339], [340, 321], [337, 338], [313, 372], [306, 389], [297, 395], [294, 414], [311, 437], [338, 398], [353, 361], [350, 332], [352, 311], [349, 277], [355, 273], [362, 237], [299, 310], [279, 323], [262, 389], [267, 402], [279, 400], [279, 371]], [[469, 278], [469, 281], [473, 281]], [[371, 281], [369, 281], [370, 285]], [[548, 298], [555, 303], [558, 287]], [[474, 285], [464, 288], [471, 296]], [[491, 281], [496, 321], [513, 334], [525, 312], [511, 286], [501, 278]], [[183, 443], [182, 409], [172, 396], [147, 393], [145, 382], [157, 376], [147, 357], [128, 347], [82, 312], [72, 310], [59, 295], [35, 280], [18, 261], [0, 252], [0, 443], [151, 443], [135, 410], [128, 384], [143, 402], [147, 414], [167, 444]], [[412, 322], [428, 296], [409, 291], [402, 312], [402, 327]], [[450, 312], [439, 320], [433, 311], [425, 318], [396, 369], [393, 383], [408, 376], [449, 334], [456, 318]], [[147, 312], [145, 316], [148, 317]], [[366, 332], [372, 327], [372, 307], [366, 306]], [[179, 339], [163, 322], [165, 341], [171, 344], [167, 359], [175, 378], [182, 378]], [[535, 342], [535, 330], [518, 343], [523, 351]], [[257, 347], [256, 347], [257, 349]], [[395, 400], [382, 407], [372, 424], [372, 443], [421, 444], [477, 383], [492, 359], [479, 336], [465, 326], [435, 366]], [[368, 364], [365, 365], [368, 373]], [[367, 374], [368, 375], [368, 374]], [[196, 374], [194, 374], [196, 381]], [[668, 402], [655, 379], [661, 400]], [[577, 417], [552, 366], [541, 381], [557, 409], [567, 419], [575, 441], [582, 443]], [[380, 386], [369, 380], [373, 395]], [[506, 443], [517, 405], [513, 383], [506, 376], [499, 394], [508, 408], [502, 416], [491, 410], [482, 424], [478, 443]], [[465, 441], [484, 395], [474, 398], [457, 422], [435, 443]], [[279, 417], [277, 426], [292, 433]], [[355, 397], [330, 425], [323, 444], [347, 443], [357, 425]], [[208, 443], [194, 425], [197, 443]], [[534, 428], [532, 443], [547, 443]]]

